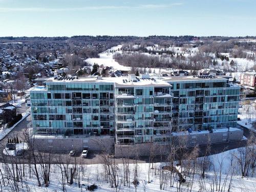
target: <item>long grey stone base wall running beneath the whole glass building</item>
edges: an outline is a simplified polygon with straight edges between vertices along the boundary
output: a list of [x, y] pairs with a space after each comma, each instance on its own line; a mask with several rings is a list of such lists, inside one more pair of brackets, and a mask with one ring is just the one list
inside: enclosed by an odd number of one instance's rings
[[[89, 147], [90, 151], [104, 150], [113, 151], [115, 148], [115, 156], [147, 156], [150, 153], [160, 155], [168, 152], [170, 143], [136, 143], [132, 145], [115, 144], [114, 137], [84, 137], [84, 138], [58, 138], [40, 136], [35, 137], [34, 146], [38, 151], [82, 151], [84, 147]], [[219, 130], [214, 133], [208, 131], [193, 133], [174, 133], [172, 140], [179, 146], [193, 147], [196, 145], [207, 145], [208, 143], [224, 143], [229, 141], [238, 141], [243, 139], [243, 130], [233, 128], [230, 131]], [[154, 151], [154, 152], [153, 152]]]

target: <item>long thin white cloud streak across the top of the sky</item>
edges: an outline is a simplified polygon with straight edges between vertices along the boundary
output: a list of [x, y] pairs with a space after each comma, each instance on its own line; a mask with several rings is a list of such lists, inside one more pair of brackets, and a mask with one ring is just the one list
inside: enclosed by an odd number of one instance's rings
[[90, 6], [90, 7], [75, 7], [75, 8], [0, 8], [0, 12], [56, 12], [56, 11], [82, 11], [82, 10], [108, 10], [108, 9], [158, 9], [158, 8], [168, 8], [173, 6], [183, 5], [182, 3], [168, 4], [168, 5], [155, 5], [146, 4], [139, 6]]

